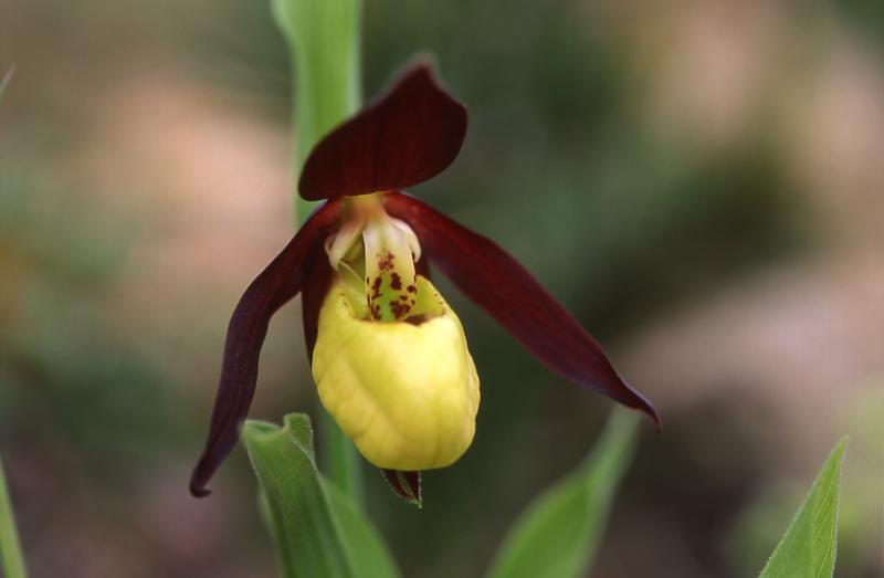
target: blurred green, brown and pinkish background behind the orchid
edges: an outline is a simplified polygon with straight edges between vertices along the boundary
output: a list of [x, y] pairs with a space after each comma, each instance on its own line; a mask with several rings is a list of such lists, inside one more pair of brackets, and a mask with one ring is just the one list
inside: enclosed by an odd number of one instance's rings
[[[367, 97], [429, 51], [470, 107], [459, 161], [414, 192], [509, 249], [663, 416], [591, 576], [755, 575], [842, 433], [839, 575], [884, 574], [881, 7], [366, 1]], [[187, 493], [228, 317], [292, 230], [269, 7], [1, 9], [0, 455], [32, 574], [274, 576], [241, 450]], [[440, 286], [483, 399], [423, 511], [366, 467], [409, 577], [477, 576], [611, 409]], [[254, 417], [315, 408], [298, 311]]]

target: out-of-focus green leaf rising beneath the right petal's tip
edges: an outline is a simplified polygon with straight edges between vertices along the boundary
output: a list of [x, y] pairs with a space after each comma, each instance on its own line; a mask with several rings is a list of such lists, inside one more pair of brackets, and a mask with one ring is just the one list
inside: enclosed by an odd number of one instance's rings
[[577, 471], [547, 490], [511, 528], [491, 578], [582, 576], [635, 449], [639, 418], [615, 410]]

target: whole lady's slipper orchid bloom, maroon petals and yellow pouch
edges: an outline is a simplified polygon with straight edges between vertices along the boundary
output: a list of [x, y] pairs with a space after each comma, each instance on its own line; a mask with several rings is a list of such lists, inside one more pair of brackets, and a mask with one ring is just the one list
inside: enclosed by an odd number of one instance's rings
[[393, 490], [414, 498], [417, 472], [456, 461], [473, 439], [478, 378], [428, 261], [547, 367], [659, 425], [651, 403], [522, 265], [402, 192], [444, 170], [465, 134], [466, 108], [419, 64], [314, 148], [298, 189], [326, 202], [233, 312], [193, 495], [209, 493], [206, 484], [235, 445], [270, 318], [298, 293], [319, 398]]

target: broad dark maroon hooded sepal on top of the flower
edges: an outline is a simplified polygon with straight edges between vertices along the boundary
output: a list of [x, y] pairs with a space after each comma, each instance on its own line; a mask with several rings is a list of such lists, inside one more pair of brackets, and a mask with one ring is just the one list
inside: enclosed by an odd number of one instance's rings
[[316, 145], [298, 190], [319, 200], [412, 187], [451, 165], [465, 135], [466, 108], [420, 63]]

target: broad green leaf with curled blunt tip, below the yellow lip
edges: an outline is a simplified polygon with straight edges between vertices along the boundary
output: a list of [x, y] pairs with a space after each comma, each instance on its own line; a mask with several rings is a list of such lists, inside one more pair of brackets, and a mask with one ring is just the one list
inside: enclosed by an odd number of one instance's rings
[[282, 428], [246, 421], [243, 440], [284, 576], [399, 576], [375, 528], [316, 469], [307, 416], [286, 416]]

